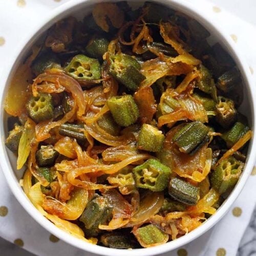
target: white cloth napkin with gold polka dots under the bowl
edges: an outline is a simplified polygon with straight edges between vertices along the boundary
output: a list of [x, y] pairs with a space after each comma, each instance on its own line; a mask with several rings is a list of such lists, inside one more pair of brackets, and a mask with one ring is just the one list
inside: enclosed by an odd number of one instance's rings
[[[26, 1], [26, 2], [25, 2]], [[207, 16], [218, 19], [223, 24], [237, 46], [243, 52], [248, 67], [256, 71], [256, 53], [252, 51], [256, 45], [256, 29], [251, 24], [231, 15], [220, 6], [207, 1], [190, 0], [200, 6]], [[0, 0], [0, 77], [1, 69], [7, 59], [14, 59], [13, 52], [18, 42], [29, 33], [45, 13], [68, 2], [68, 0]], [[232, 2], [229, 1], [231, 4]], [[256, 172], [255, 172], [256, 174]], [[162, 255], [236, 255], [240, 240], [248, 225], [256, 198], [256, 175], [250, 176], [241, 195], [233, 204], [227, 215], [207, 233], [183, 248]], [[12, 195], [0, 172], [0, 237], [23, 246], [36, 255], [84, 255], [79, 250], [62, 241], [52, 242], [54, 237], [37, 224]], [[234, 207], [237, 207], [234, 209]], [[8, 212], [7, 212], [8, 210]], [[242, 210], [242, 212], [241, 212]], [[240, 217], [234, 216], [241, 214]], [[86, 253], [86, 255], [93, 255]]]

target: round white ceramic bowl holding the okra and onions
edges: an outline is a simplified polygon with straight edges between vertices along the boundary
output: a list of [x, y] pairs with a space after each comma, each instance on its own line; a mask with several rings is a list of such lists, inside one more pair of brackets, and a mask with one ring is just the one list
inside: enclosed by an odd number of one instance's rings
[[[6, 176], [6, 179], [9, 183], [9, 186], [19, 201], [20, 204], [28, 211], [30, 216], [34, 218], [42, 227], [46, 228], [49, 232], [53, 233], [55, 236], [60, 238], [61, 240], [70, 243], [73, 246], [76, 246], [82, 250], [90, 251], [93, 253], [98, 253], [102, 255], [155, 255], [159, 253], [163, 253], [166, 251], [174, 250], [188, 242], [193, 241], [194, 239], [201, 236], [204, 232], [206, 232], [210, 227], [214, 226], [227, 212], [230, 208], [234, 200], [240, 194], [245, 182], [250, 175], [250, 172], [253, 167], [253, 163], [255, 160], [256, 153], [256, 143], [255, 137], [250, 142], [248, 158], [246, 161], [246, 165], [243, 171], [243, 174], [233, 189], [232, 193], [229, 195], [227, 200], [222, 204], [222, 206], [218, 209], [215, 215], [210, 217], [203, 225], [198, 227], [197, 229], [191, 231], [185, 236], [175, 240], [168, 242], [166, 244], [152, 247], [152, 248], [143, 248], [143, 249], [134, 249], [134, 250], [118, 250], [105, 248], [98, 245], [88, 244], [83, 242], [75, 237], [72, 237], [70, 234], [60, 230], [55, 227], [50, 221], [48, 221], [45, 217], [43, 217], [39, 211], [32, 205], [29, 199], [24, 194], [22, 188], [20, 187], [18, 181], [21, 178], [22, 174], [20, 171], [16, 171], [16, 157], [12, 153], [6, 150], [5, 147], [5, 137], [7, 135], [7, 116], [3, 111], [4, 99], [8, 89], [8, 84], [15, 73], [16, 68], [19, 63], [25, 58], [28, 54], [28, 51], [31, 49], [31, 46], [34, 44], [36, 39], [44, 33], [50, 26], [52, 26], [57, 20], [62, 19], [68, 15], [86, 15], [91, 9], [92, 5], [95, 3], [99, 3], [102, 1], [99, 0], [72, 0], [66, 4], [63, 4], [59, 8], [52, 11], [48, 16], [42, 17], [42, 22], [37, 25], [34, 29], [33, 33], [28, 34], [26, 40], [21, 44], [18, 49], [15, 58], [12, 63], [5, 69], [4, 71], [4, 79], [2, 78], [1, 86], [0, 86], [0, 100], [1, 100], [1, 112], [0, 112], [0, 123], [1, 123], [1, 142], [0, 142], [0, 156], [1, 156], [1, 166]], [[117, 2], [117, 1], [113, 1]], [[132, 0], [129, 1], [133, 5], [139, 5], [143, 1]], [[136, 3], [135, 3], [136, 2]], [[197, 19], [202, 25], [204, 25], [208, 31], [222, 44], [222, 46], [229, 52], [229, 54], [233, 57], [234, 61], [236, 61], [237, 66], [239, 67], [243, 80], [244, 80], [244, 102], [242, 104], [242, 112], [248, 117], [251, 129], [253, 134], [255, 133], [255, 103], [253, 102], [254, 92], [253, 92], [253, 84], [250, 80], [249, 68], [247, 63], [239, 53], [236, 46], [233, 44], [232, 40], [228, 35], [225, 35], [223, 32], [221, 24], [218, 24], [216, 20], [209, 19], [203, 12], [200, 12], [198, 7], [191, 2], [187, 2], [186, 0], [155, 0], [154, 2], [161, 3], [166, 7], [171, 7], [175, 10], [181, 11], [187, 14], [190, 17]]]

